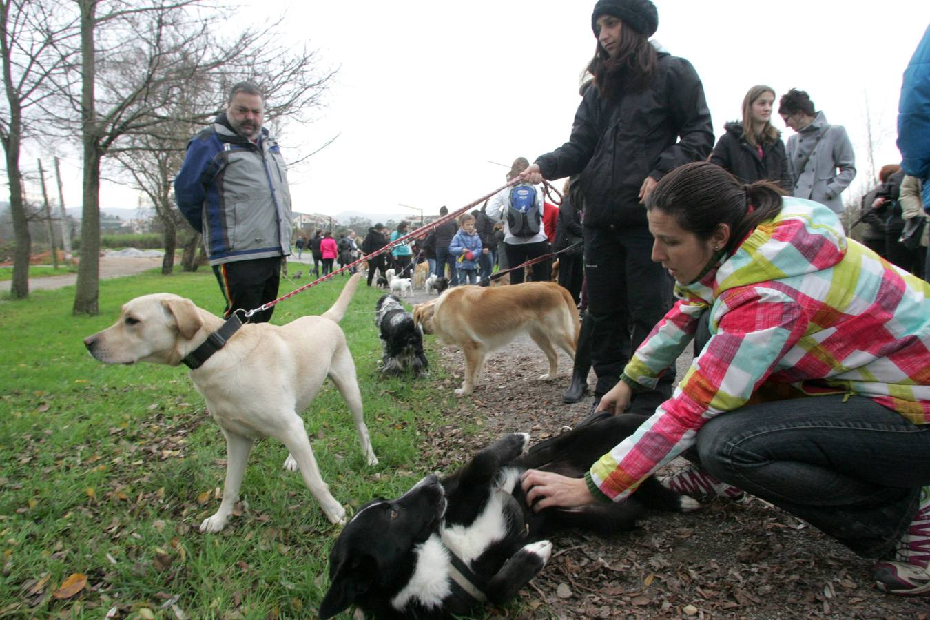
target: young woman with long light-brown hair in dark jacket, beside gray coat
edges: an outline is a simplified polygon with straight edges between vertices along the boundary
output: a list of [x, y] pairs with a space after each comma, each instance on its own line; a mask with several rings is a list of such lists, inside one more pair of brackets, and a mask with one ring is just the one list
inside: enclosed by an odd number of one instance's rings
[[726, 133], [711, 152], [711, 164], [728, 170], [743, 183], [770, 180], [790, 193], [794, 178], [781, 133], [771, 123], [774, 105], [775, 90], [752, 86], [743, 98], [742, 123], [724, 125]]

